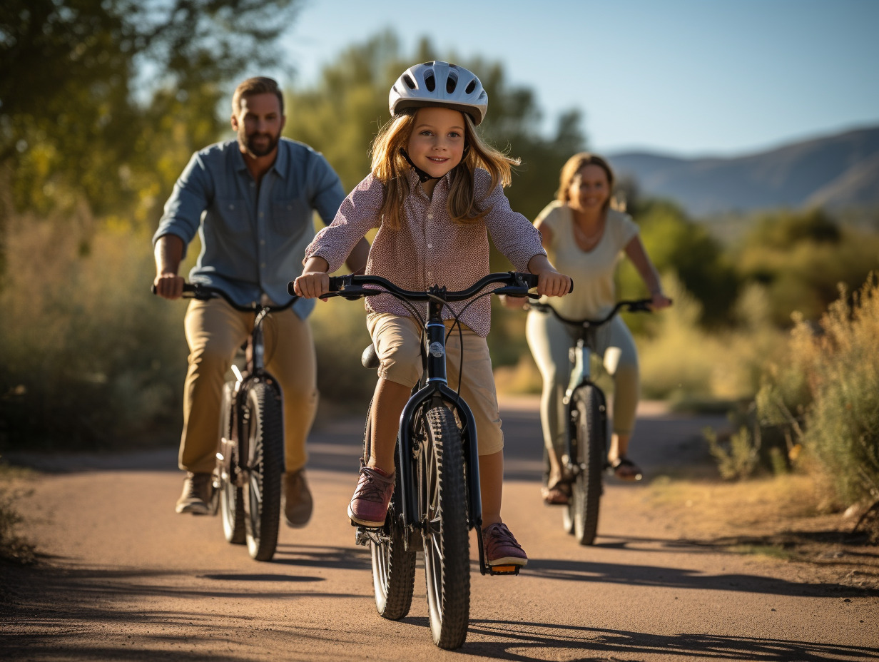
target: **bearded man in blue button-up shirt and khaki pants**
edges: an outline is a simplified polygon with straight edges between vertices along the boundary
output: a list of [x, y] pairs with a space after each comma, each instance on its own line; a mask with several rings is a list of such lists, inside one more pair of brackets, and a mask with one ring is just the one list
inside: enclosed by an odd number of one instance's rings
[[[186, 247], [196, 233], [201, 251], [192, 282], [221, 289], [238, 305], [290, 301], [287, 282], [302, 270], [315, 235], [313, 212], [332, 222], [345, 191], [326, 159], [301, 142], [281, 137], [286, 116], [278, 84], [248, 78], [232, 96], [237, 140], [196, 152], [177, 180], [153, 236], [156, 294], [177, 299]], [[346, 262], [366, 265], [361, 241]], [[312, 497], [305, 478], [306, 438], [317, 408], [316, 358], [308, 316], [313, 301], [301, 299], [272, 313], [265, 324], [266, 369], [280, 383], [284, 402], [284, 515], [304, 527]], [[220, 439], [222, 386], [236, 349], [250, 335], [253, 316], [224, 299], [190, 302], [185, 316], [189, 345], [178, 456], [186, 472], [178, 513], [205, 514], [213, 496], [211, 472]]]

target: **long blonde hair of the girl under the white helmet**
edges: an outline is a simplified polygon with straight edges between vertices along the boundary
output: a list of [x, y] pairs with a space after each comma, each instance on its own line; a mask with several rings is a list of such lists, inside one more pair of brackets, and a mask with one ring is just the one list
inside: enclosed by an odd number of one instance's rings
[[[381, 222], [387, 223], [392, 229], [400, 227], [403, 198], [409, 188], [408, 173], [411, 166], [400, 150], [406, 149], [409, 143], [417, 112], [418, 109], [410, 108], [389, 120], [375, 136], [371, 148], [373, 177], [385, 186]], [[506, 156], [488, 145], [476, 133], [476, 126], [469, 115], [461, 113], [461, 116], [464, 118], [464, 156], [450, 173], [446, 208], [454, 222], [471, 223], [490, 212], [490, 208], [481, 209], [480, 200], [476, 200], [473, 188], [476, 168], [482, 167], [489, 171], [489, 191], [493, 191], [498, 183], [510, 185], [511, 166], [519, 165], [519, 159]]]

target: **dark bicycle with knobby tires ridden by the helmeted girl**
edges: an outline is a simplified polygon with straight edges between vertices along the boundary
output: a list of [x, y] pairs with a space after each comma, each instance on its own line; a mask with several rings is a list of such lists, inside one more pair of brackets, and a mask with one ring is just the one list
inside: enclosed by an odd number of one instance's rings
[[[492, 284], [497, 289], [485, 290]], [[433, 643], [454, 649], [467, 637], [470, 608], [469, 529], [482, 531], [476, 422], [461, 396], [447, 386], [446, 340], [452, 330], [442, 312], [450, 302], [490, 294], [527, 296], [536, 287], [530, 273], [490, 273], [460, 292], [430, 287], [414, 292], [378, 276], [331, 277], [327, 296], [356, 300], [390, 294], [410, 309], [424, 330], [424, 374], [403, 408], [395, 451], [396, 484], [384, 525], [357, 527], [355, 542], [369, 545], [375, 605], [379, 614], [398, 621], [409, 613], [415, 586], [417, 549], [425, 562], [425, 584]], [[289, 290], [292, 292], [293, 283]], [[427, 316], [414, 305], [426, 302]], [[469, 304], [468, 304], [469, 305]], [[364, 364], [370, 367], [364, 353]], [[463, 361], [463, 357], [461, 358]], [[374, 367], [374, 364], [372, 367]], [[370, 409], [372, 405], [370, 404]], [[370, 455], [367, 414], [363, 452]], [[490, 566], [482, 535], [476, 535], [483, 574], [519, 574], [518, 565]]]

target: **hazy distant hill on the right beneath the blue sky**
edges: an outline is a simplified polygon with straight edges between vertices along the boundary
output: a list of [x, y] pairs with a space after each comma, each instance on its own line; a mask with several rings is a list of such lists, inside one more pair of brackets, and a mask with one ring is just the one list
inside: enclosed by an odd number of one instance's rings
[[879, 207], [879, 127], [732, 158], [638, 152], [607, 158], [641, 193], [671, 198], [697, 217], [770, 207]]

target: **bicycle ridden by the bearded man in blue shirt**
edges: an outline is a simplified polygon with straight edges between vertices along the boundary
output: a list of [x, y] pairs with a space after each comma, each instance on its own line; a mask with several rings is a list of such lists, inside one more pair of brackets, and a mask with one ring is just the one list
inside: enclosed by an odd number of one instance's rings
[[[155, 287], [153, 288], [155, 293]], [[278, 545], [281, 475], [284, 471], [284, 409], [280, 385], [265, 369], [265, 317], [283, 306], [253, 302], [240, 306], [216, 287], [185, 283], [183, 296], [207, 301], [222, 297], [232, 308], [254, 315], [242, 346], [244, 368], [232, 364], [234, 380], [223, 385], [220, 439], [213, 473], [210, 513], [221, 513], [227, 542], [247, 544], [257, 561], [271, 561]]]

